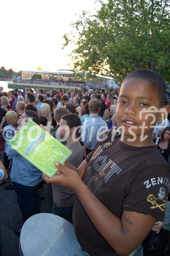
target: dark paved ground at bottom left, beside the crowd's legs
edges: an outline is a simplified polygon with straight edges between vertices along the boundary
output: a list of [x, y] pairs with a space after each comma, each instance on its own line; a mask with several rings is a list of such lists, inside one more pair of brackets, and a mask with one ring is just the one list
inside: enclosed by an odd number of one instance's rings
[[[15, 235], [14, 229], [21, 226], [22, 216], [16, 202], [15, 191], [4, 189], [9, 182], [8, 179], [7, 184], [0, 185], [2, 256], [19, 256], [19, 238]], [[45, 198], [47, 198], [46, 191]], [[50, 212], [46, 199], [41, 203], [41, 212]]]

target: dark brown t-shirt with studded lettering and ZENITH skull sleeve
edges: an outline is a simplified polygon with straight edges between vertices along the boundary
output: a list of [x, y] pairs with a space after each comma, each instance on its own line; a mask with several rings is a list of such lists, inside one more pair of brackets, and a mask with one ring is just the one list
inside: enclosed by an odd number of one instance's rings
[[[164, 220], [170, 187], [169, 167], [156, 146], [134, 147], [115, 137], [96, 145], [87, 157], [84, 183], [115, 216], [124, 210]], [[77, 239], [90, 255], [118, 255], [101, 236], [77, 200], [73, 223]]]

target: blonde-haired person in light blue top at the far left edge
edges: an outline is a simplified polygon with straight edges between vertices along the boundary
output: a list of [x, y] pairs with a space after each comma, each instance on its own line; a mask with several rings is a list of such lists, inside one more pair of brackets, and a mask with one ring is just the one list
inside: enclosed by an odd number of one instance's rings
[[[6, 115], [3, 117], [3, 120], [0, 124], [0, 133], [3, 133], [3, 137], [5, 139], [5, 149], [4, 149], [4, 166], [8, 170], [10, 160], [7, 157], [7, 142], [14, 135], [14, 131], [16, 131], [18, 121], [18, 115], [14, 111], [8, 111]], [[6, 126], [4, 124], [7, 123]]]

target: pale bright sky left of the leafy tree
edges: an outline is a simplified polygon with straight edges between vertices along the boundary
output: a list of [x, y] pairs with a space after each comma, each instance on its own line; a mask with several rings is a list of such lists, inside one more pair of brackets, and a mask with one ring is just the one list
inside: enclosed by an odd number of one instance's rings
[[1, 1], [0, 67], [44, 71], [72, 69], [71, 48], [62, 50], [63, 35], [83, 10], [95, 13], [95, 0]]

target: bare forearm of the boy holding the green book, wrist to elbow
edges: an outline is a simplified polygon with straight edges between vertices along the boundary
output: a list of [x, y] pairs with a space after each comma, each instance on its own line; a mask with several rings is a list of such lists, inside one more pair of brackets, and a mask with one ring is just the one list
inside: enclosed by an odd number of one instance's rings
[[137, 244], [138, 241], [132, 243], [133, 234], [130, 234], [122, 220], [112, 214], [83, 182], [77, 186], [75, 192], [95, 228], [116, 252], [126, 255], [140, 244]]

